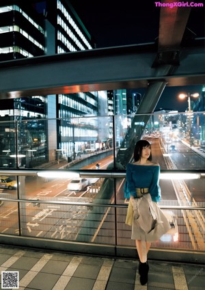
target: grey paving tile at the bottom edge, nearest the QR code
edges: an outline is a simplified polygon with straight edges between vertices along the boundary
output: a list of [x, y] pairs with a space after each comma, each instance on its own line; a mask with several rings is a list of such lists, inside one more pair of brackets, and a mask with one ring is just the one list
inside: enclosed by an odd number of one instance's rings
[[59, 277], [59, 275], [40, 272], [33, 278], [29, 285], [27, 285], [27, 289], [51, 290]]

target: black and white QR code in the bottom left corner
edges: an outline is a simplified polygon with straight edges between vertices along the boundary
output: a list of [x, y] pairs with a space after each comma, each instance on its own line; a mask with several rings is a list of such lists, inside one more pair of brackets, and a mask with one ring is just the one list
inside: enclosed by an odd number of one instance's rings
[[1, 272], [1, 289], [18, 289], [18, 271]]

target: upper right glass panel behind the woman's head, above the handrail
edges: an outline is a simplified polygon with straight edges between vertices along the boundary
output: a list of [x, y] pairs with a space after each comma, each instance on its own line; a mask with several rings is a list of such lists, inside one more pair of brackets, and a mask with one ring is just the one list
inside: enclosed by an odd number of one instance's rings
[[[120, 100], [115, 99], [122, 107]], [[204, 169], [204, 112], [189, 117], [187, 113], [116, 116], [116, 161], [125, 167], [133, 159], [135, 143], [143, 138], [152, 145], [153, 161], [161, 169]]]

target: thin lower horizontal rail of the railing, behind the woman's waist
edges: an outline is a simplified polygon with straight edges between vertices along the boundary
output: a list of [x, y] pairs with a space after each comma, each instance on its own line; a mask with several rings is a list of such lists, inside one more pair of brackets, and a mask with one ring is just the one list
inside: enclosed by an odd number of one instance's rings
[[[86, 207], [128, 207], [128, 205], [118, 205], [118, 204], [102, 204], [102, 203], [94, 203], [94, 202], [67, 202], [67, 201], [57, 201], [57, 200], [25, 200], [19, 198], [0, 198], [2, 201], [12, 201], [12, 202], [31, 202], [35, 204], [51, 204], [51, 205], [81, 205]], [[205, 207], [186, 207], [186, 206], [167, 206], [167, 205], [159, 205], [161, 209], [183, 209], [183, 210], [197, 210], [197, 211], [205, 211]]]

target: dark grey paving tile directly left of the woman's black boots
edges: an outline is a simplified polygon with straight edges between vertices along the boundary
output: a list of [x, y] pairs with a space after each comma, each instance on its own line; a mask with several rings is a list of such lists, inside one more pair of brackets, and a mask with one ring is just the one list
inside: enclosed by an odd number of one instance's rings
[[109, 276], [111, 282], [135, 284], [136, 269], [113, 267]]

